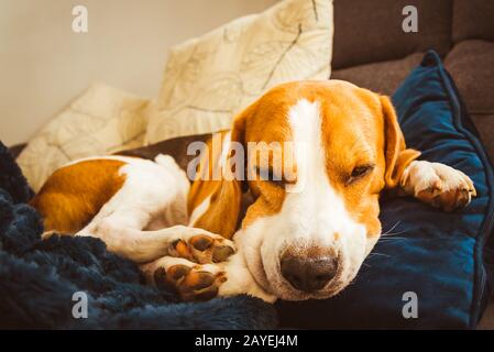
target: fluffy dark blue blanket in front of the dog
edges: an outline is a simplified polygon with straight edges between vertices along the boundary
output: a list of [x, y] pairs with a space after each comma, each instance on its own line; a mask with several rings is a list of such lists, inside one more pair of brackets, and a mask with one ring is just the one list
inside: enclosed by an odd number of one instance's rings
[[[178, 302], [145, 286], [133, 263], [91, 238], [41, 241], [39, 215], [25, 205], [31, 191], [0, 142], [0, 328], [267, 329], [272, 305], [251, 297]], [[73, 308], [88, 298], [88, 317]], [[73, 296], [75, 300], [73, 300]], [[76, 306], [76, 312], [81, 312]], [[77, 316], [77, 315], [76, 315]]]

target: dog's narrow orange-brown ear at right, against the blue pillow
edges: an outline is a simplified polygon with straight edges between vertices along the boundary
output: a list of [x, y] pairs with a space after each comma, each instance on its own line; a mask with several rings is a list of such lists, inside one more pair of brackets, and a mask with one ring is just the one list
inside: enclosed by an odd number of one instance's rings
[[381, 106], [384, 119], [386, 161], [384, 182], [386, 188], [394, 188], [399, 185], [405, 168], [420, 155], [420, 152], [406, 147], [405, 138], [389, 98], [381, 96]]

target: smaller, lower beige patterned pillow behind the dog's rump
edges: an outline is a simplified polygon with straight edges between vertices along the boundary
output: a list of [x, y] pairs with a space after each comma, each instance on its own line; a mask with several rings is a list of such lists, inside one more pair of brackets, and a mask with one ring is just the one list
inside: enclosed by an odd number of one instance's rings
[[143, 144], [150, 100], [94, 84], [31, 140], [18, 158], [31, 187], [67, 162]]

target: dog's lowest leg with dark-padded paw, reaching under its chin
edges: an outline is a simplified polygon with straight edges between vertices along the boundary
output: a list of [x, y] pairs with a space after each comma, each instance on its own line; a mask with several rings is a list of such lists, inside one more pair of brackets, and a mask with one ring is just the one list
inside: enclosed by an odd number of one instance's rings
[[222, 263], [197, 264], [182, 257], [164, 256], [141, 265], [147, 282], [175, 290], [185, 301], [213, 297], [250, 295], [273, 302], [275, 297], [264, 292], [250, 273], [242, 253]]

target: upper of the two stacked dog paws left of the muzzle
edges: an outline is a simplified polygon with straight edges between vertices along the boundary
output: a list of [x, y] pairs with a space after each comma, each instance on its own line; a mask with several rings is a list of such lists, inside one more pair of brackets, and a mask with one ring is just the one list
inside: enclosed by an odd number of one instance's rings
[[189, 228], [187, 234], [177, 238], [171, 245], [169, 255], [200, 264], [224, 262], [235, 253], [232, 241], [200, 229], [191, 232]]

